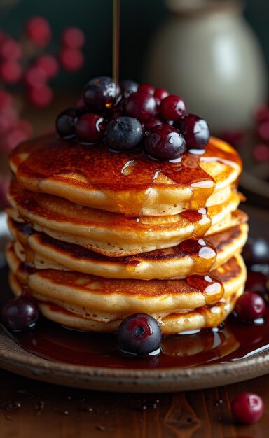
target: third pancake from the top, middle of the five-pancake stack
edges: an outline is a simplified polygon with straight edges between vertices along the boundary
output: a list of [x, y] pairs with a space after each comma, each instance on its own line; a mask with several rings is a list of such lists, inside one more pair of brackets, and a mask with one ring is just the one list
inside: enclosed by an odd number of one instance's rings
[[36, 269], [78, 271], [105, 278], [184, 278], [207, 274], [241, 251], [247, 240], [247, 216], [233, 215], [233, 226], [200, 240], [129, 257], [106, 257], [72, 243], [34, 232], [29, 225], [8, 221], [15, 239], [14, 250], [21, 262]]

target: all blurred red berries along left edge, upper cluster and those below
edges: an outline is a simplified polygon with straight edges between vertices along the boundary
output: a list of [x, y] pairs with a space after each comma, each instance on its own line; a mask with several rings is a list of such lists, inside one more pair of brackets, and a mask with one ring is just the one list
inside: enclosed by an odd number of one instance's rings
[[[43, 108], [53, 100], [50, 80], [62, 70], [74, 72], [84, 62], [82, 48], [85, 36], [81, 29], [62, 31], [57, 52], [49, 52], [53, 39], [49, 22], [32, 17], [17, 40], [0, 31], [0, 153], [8, 154], [32, 135], [28, 120], [21, 118], [13, 92], [25, 90], [30, 104]], [[55, 45], [55, 43], [54, 43]], [[0, 206], [6, 203], [7, 177], [0, 174]]]

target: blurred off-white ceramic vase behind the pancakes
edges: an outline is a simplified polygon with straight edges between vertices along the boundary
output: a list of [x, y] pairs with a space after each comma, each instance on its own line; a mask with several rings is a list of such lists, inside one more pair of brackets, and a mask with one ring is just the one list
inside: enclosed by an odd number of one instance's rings
[[267, 72], [238, 1], [167, 0], [170, 16], [146, 53], [144, 81], [186, 100], [213, 132], [249, 127]]

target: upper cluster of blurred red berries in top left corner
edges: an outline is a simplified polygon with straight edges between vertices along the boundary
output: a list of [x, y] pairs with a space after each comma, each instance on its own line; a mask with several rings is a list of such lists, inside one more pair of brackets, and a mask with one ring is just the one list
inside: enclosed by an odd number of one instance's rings
[[81, 29], [69, 27], [62, 32], [59, 55], [43, 52], [52, 38], [50, 24], [43, 17], [30, 18], [23, 38], [16, 41], [0, 33], [0, 78], [6, 85], [21, 82], [29, 101], [35, 106], [47, 106], [53, 99], [49, 81], [63, 69], [76, 71], [83, 65], [81, 48], [84, 34]]

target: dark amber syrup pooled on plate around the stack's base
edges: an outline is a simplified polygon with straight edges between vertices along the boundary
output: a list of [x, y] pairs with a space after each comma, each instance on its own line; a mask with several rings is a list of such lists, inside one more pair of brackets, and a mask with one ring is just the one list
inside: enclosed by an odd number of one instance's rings
[[[11, 297], [6, 268], [1, 269], [1, 278], [5, 283], [1, 295], [3, 304]], [[67, 364], [121, 369], [197, 367], [242, 360], [267, 351], [269, 310], [266, 309], [264, 321], [260, 324], [242, 323], [230, 315], [221, 327], [213, 330], [163, 337], [160, 355], [149, 358], [120, 355], [116, 334], [70, 330], [45, 318], [41, 318], [33, 329], [8, 332], [8, 335], [29, 353]]]

